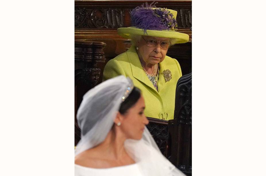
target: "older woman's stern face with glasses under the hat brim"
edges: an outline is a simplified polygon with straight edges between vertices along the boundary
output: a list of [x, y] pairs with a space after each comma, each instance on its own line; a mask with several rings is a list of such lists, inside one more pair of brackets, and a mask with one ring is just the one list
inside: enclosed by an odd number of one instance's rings
[[[146, 41], [156, 40], [157, 45], [155, 47], [149, 47], [146, 45]], [[142, 36], [140, 37], [137, 47], [139, 48], [138, 55], [146, 64], [155, 65], [160, 63], [165, 58], [167, 49], [162, 49], [160, 47], [160, 42], [170, 42], [170, 38], [152, 37], [152, 36]]]

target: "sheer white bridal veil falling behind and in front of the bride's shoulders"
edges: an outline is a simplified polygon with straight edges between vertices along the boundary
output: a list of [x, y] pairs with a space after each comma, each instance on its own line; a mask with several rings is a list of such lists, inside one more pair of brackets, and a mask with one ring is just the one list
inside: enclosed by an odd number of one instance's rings
[[[83, 96], [77, 113], [81, 140], [76, 146], [75, 156], [105, 140], [121, 103], [133, 88], [130, 78], [117, 76], [95, 86]], [[141, 140], [128, 139], [124, 146], [145, 176], [184, 175], [161, 154], [146, 127]]]

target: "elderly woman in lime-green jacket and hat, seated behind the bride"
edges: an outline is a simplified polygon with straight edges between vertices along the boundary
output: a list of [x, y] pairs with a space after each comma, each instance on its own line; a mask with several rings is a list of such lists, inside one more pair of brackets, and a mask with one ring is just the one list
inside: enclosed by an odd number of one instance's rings
[[152, 8], [147, 4], [133, 9], [134, 27], [117, 29], [119, 35], [132, 40], [132, 46], [111, 59], [103, 71], [103, 80], [118, 75], [133, 80], [146, 100], [147, 117], [174, 118], [176, 84], [182, 72], [178, 61], [166, 53], [171, 45], [189, 39], [187, 34], [175, 31], [176, 15], [177, 11]]

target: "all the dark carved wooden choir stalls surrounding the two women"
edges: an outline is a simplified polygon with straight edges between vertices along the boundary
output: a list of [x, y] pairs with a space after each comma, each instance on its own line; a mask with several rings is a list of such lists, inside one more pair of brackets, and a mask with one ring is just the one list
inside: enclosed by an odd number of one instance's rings
[[[75, 146], [80, 140], [76, 113], [82, 96], [102, 82], [106, 63], [125, 52], [129, 39], [117, 34], [117, 28], [130, 27], [129, 11], [153, 1], [75, 1]], [[148, 117], [147, 128], [162, 154], [186, 175], [192, 175], [192, 2], [157, 1], [157, 7], [178, 12], [178, 32], [190, 40], [171, 46], [167, 55], [180, 63], [183, 76], [176, 87], [174, 119]]]

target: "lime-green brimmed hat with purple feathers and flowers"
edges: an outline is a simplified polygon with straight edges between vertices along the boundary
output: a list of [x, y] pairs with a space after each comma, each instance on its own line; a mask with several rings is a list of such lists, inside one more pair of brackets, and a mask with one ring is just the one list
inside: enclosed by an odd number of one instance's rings
[[154, 37], [172, 38], [172, 44], [188, 42], [189, 35], [177, 32], [177, 11], [157, 8], [156, 3], [146, 7], [142, 4], [134, 8], [131, 12], [132, 27], [118, 28], [117, 33], [124, 37], [130, 38], [131, 34], [146, 35]]

